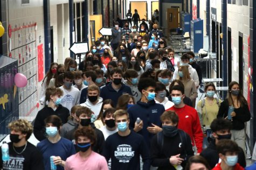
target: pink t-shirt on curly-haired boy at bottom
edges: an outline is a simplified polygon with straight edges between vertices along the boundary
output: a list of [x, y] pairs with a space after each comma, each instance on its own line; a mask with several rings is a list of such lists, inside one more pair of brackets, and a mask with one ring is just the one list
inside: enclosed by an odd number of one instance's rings
[[86, 159], [81, 158], [79, 152], [68, 157], [65, 170], [108, 170], [105, 157], [92, 151]]

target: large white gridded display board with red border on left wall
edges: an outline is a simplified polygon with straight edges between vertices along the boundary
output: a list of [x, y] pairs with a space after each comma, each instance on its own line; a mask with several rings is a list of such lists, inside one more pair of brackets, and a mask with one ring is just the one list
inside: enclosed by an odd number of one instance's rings
[[[18, 88], [19, 117], [30, 116], [37, 104], [37, 23], [9, 24], [9, 57], [18, 60], [18, 72], [27, 78], [27, 85]], [[39, 38], [40, 42], [40, 38]], [[43, 65], [41, 65], [43, 66]], [[41, 76], [41, 75], [40, 75]]]

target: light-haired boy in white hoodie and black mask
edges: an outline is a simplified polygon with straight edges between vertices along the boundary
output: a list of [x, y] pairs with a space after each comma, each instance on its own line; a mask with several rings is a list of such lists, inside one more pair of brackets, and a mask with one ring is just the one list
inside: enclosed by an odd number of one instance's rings
[[92, 110], [97, 118], [100, 114], [100, 108], [102, 106], [102, 98], [100, 97], [100, 88], [96, 85], [91, 85], [87, 88], [87, 99], [81, 106], [88, 107]]

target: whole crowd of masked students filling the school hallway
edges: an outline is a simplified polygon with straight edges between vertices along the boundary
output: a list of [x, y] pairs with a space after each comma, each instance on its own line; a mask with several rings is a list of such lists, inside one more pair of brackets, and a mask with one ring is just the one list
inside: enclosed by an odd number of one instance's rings
[[[239, 84], [229, 84], [224, 101], [206, 84], [196, 106], [202, 72], [195, 55], [177, 61], [157, 25], [144, 29], [115, 23], [112, 47], [102, 37], [79, 65], [70, 57], [52, 63], [44, 108], [33, 127], [22, 119], [9, 124], [10, 160], [0, 168], [51, 169], [55, 156], [57, 169], [66, 170], [244, 169], [251, 114]], [[32, 132], [37, 146], [27, 142]]]

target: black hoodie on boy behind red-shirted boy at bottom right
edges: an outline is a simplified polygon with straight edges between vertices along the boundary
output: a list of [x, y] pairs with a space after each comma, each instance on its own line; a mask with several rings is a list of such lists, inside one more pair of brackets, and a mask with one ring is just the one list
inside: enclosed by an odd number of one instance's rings
[[[216, 149], [215, 140], [210, 142], [209, 146], [200, 153], [200, 156], [204, 157], [207, 160], [211, 168], [215, 167], [215, 165], [218, 164], [219, 154]], [[243, 167], [246, 166], [245, 154], [241, 147], [239, 147], [238, 152], [238, 163]]]

